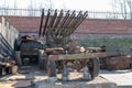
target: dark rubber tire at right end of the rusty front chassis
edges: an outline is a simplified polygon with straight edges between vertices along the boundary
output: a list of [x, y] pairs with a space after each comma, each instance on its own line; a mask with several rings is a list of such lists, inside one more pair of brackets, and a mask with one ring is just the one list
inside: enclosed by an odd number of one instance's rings
[[90, 58], [87, 66], [91, 75], [91, 79], [95, 79], [99, 75], [100, 70], [99, 58]]

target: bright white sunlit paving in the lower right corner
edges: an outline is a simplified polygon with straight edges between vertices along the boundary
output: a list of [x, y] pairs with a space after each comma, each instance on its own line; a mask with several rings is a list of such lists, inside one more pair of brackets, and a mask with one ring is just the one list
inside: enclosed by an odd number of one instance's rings
[[132, 88], [132, 70], [101, 70], [100, 76], [116, 82], [119, 88]]

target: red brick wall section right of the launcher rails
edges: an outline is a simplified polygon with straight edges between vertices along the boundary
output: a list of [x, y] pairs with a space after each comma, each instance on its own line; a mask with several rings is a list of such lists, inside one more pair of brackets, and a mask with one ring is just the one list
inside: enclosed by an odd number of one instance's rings
[[132, 33], [131, 20], [87, 19], [78, 31], [87, 33]]

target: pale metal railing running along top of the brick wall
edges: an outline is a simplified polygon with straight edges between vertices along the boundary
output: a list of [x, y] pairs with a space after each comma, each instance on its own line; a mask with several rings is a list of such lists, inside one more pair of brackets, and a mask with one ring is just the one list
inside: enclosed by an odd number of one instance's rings
[[[45, 10], [46, 15], [47, 10]], [[59, 11], [58, 11], [59, 12]], [[79, 11], [77, 11], [79, 12]], [[41, 9], [6, 9], [0, 8], [0, 15], [20, 15], [20, 16], [41, 16]], [[125, 15], [125, 18], [123, 18]], [[128, 19], [130, 20], [130, 13], [123, 14], [120, 12], [97, 12], [88, 11], [88, 18], [90, 19]]]

